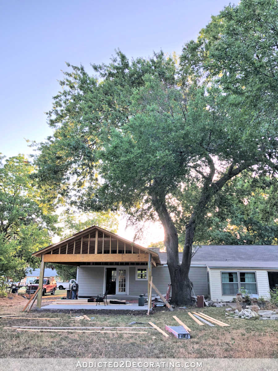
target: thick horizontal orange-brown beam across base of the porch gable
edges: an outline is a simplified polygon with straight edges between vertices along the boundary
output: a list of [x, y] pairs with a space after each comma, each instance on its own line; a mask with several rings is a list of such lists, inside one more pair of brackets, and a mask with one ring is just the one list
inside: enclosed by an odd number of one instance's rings
[[149, 254], [45, 254], [44, 262], [148, 262]]

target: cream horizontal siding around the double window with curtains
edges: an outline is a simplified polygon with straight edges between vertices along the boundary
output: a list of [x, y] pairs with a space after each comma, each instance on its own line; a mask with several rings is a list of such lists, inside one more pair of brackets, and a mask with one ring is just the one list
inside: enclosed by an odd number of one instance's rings
[[222, 295], [221, 272], [256, 272], [258, 296], [269, 299], [268, 275], [266, 270], [255, 269], [209, 269], [209, 285], [211, 290], [211, 299], [216, 301], [232, 301], [235, 296]]

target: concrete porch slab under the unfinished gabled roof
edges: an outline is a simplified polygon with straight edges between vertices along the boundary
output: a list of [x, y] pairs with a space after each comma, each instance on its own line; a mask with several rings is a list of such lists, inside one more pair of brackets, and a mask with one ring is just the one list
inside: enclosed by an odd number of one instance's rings
[[144, 306], [139, 306], [138, 304], [109, 304], [109, 305], [89, 305], [89, 304], [72, 304], [72, 305], [63, 305], [63, 304], [49, 304], [49, 305], [44, 305], [42, 310], [49, 310], [49, 309], [97, 309], [97, 310], [102, 310], [102, 309], [109, 309], [109, 310], [115, 310], [115, 311], [147, 311], [148, 310], [148, 305]]

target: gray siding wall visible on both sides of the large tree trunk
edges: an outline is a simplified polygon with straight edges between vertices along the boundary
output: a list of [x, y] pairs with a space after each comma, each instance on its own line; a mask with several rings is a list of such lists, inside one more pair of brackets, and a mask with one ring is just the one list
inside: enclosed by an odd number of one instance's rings
[[[208, 295], [208, 284], [206, 278], [206, 267], [191, 267], [189, 271], [189, 278], [193, 283], [193, 290], [195, 295]], [[152, 268], [152, 280], [154, 285], [162, 294], [166, 294], [168, 283], [171, 282], [168, 267], [158, 266]], [[130, 290], [130, 285], [129, 285]], [[152, 290], [152, 296], [157, 293]]]

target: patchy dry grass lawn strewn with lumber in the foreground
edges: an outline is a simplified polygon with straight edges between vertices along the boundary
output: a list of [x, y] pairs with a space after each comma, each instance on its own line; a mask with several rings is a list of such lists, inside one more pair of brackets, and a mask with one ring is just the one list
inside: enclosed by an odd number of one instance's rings
[[[60, 291], [60, 290], [59, 290]], [[43, 299], [47, 300], [47, 299]], [[22, 306], [22, 305], [21, 305]], [[20, 307], [21, 308], [21, 307]], [[225, 318], [224, 308], [203, 308], [200, 312], [220, 319], [230, 327], [199, 326], [189, 317], [187, 311], [196, 308], [165, 310], [146, 315], [108, 315], [90, 310], [80, 311], [95, 317], [71, 321], [69, 313], [59, 311], [32, 310], [28, 317], [60, 317], [60, 320], [0, 319], [0, 354], [3, 358], [277, 358], [278, 321], [254, 321]], [[198, 310], [199, 311], [199, 310]], [[20, 313], [14, 308], [12, 313]], [[3, 313], [3, 308], [1, 310]], [[11, 314], [7, 310], [6, 314]], [[11, 326], [128, 326], [132, 321], [155, 322], [161, 329], [165, 325], [178, 325], [172, 318], [176, 315], [191, 328], [191, 339], [176, 339], [172, 334], [165, 338], [153, 329], [140, 329], [148, 334], [120, 333], [74, 333], [74, 332], [16, 332], [4, 329]], [[128, 330], [128, 329], [126, 329]]]

